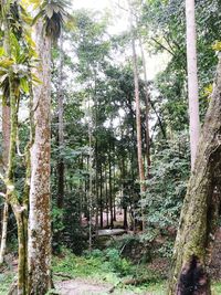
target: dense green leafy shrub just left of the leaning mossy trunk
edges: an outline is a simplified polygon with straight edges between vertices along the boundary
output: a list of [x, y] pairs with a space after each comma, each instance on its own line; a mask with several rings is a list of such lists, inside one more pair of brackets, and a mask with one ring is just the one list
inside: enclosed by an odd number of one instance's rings
[[178, 224], [189, 177], [189, 141], [181, 134], [170, 143], [159, 143], [152, 155], [151, 178], [144, 204], [148, 228], [168, 233]]

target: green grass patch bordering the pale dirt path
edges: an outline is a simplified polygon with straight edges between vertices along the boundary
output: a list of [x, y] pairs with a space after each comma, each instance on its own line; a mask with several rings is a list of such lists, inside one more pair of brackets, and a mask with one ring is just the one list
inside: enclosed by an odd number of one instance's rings
[[[145, 266], [141, 268], [145, 277], [149, 276], [146, 284], [140, 286], [125, 285], [124, 281], [131, 278], [137, 272], [136, 266], [128, 261], [120, 259], [115, 251], [99, 252], [96, 251], [92, 255], [75, 256], [65, 250], [64, 255], [53, 259], [53, 272], [65, 273], [74, 277], [88, 278], [97, 283], [109, 283], [115, 285], [114, 294], [152, 294], [162, 295], [164, 283], [158, 281], [159, 276], [149, 273]], [[140, 274], [138, 274], [139, 276]]]

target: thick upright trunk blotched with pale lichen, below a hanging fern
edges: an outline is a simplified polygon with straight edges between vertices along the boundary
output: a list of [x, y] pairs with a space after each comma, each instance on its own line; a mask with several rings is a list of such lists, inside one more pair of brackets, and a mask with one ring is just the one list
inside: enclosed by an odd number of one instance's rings
[[34, 41], [40, 57], [41, 84], [34, 87], [34, 144], [31, 148], [29, 214], [29, 294], [45, 294], [51, 287], [51, 39], [42, 35], [42, 22], [35, 24]]

